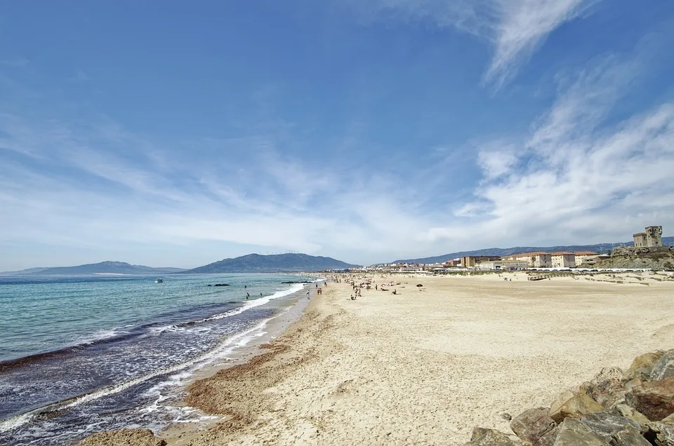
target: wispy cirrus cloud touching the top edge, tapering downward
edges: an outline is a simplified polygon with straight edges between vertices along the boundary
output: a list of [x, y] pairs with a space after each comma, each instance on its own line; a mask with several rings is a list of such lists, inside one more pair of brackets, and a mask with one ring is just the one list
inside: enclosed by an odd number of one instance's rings
[[377, 0], [348, 2], [368, 20], [425, 20], [454, 27], [493, 47], [483, 82], [498, 90], [517, 74], [550, 32], [600, 0]]

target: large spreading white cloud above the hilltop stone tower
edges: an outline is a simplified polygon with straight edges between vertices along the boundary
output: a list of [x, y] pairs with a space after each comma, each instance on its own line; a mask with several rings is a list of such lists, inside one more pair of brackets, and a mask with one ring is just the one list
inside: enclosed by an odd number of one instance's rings
[[607, 121], [641, 72], [637, 59], [608, 58], [562, 79], [566, 87], [522, 136], [521, 151], [498, 160], [495, 142], [478, 157], [484, 180], [456, 215], [481, 219], [430, 229], [428, 238], [531, 245], [626, 241], [647, 224], [672, 231], [674, 102]]

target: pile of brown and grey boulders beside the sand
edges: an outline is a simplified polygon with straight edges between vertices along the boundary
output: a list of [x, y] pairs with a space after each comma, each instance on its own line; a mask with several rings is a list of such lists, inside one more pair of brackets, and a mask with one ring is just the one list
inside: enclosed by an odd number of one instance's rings
[[550, 407], [510, 418], [515, 435], [475, 428], [464, 446], [674, 446], [674, 350], [603, 369]]

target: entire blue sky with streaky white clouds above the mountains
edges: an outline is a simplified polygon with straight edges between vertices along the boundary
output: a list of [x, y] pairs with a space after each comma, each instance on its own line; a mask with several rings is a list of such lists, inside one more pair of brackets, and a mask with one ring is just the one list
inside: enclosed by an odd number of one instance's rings
[[674, 2], [5, 1], [0, 271], [674, 235]]

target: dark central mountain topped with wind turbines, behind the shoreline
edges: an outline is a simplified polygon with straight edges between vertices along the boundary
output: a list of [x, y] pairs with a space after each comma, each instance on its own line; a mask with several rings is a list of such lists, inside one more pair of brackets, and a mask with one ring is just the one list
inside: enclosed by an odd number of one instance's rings
[[183, 271], [183, 273], [291, 273], [347, 269], [356, 266], [330, 257], [315, 257], [307, 254], [249, 254], [235, 259], [223, 259]]

